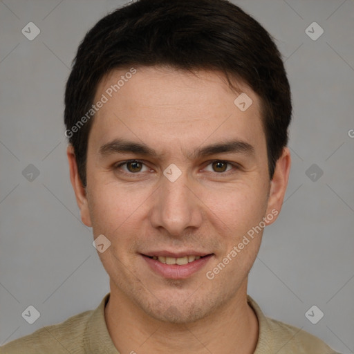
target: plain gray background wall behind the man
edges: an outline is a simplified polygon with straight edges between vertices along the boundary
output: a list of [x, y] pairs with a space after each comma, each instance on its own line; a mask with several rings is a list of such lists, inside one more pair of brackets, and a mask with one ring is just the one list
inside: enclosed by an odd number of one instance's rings
[[[234, 3], [276, 40], [294, 103], [286, 201], [265, 229], [248, 292], [265, 315], [353, 353], [354, 1]], [[109, 292], [69, 181], [62, 117], [78, 44], [121, 4], [0, 1], [0, 344], [95, 308]], [[30, 21], [41, 30], [32, 41], [21, 33]], [[324, 29], [317, 40], [305, 31], [313, 21]], [[39, 170], [32, 182], [22, 174], [29, 164]], [[29, 305], [41, 314], [31, 325], [21, 317]], [[317, 324], [305, 317], [313, 305], [324, 313]]]

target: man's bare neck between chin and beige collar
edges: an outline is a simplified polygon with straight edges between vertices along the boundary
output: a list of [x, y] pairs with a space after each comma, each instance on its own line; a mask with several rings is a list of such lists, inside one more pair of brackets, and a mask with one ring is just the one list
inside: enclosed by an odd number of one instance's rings
[[259, 323], [247, 303], [247, 280], [223, 307], [187, 324], [151, 318], [111, 283], [104, 310], [109, 335], [120, 353], [252, 354], [257, 346]]

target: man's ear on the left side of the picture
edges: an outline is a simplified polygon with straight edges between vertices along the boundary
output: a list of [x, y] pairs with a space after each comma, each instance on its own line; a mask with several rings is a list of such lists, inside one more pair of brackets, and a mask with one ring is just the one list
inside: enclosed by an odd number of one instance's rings
[[82, 181], [79, 176], [73, 145], [68, 145], [68, 148], [66, 149], [66, 155], [68, 156], [71, 185], [73, 185], [76, 202], [80, 208], [81, 220], [86, 226], [91, 227], [92, 224], [88, 210], [86, 189], [82, 185]]

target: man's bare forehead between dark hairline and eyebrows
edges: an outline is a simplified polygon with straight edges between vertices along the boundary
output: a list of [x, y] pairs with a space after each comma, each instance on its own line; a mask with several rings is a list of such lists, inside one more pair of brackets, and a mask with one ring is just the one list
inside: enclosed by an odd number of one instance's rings
[[95, 102], [103, 96], [106, 102], [91, 127], [96, 147], [122, 137], [170, 149], [176, 140], [187, 146], [235, 138], [265, 142], [260, 100], [249, 86], [235, 82], [234, 91], [216, 71], [193, 74], [155, 66], [134, 71], [112, 71], [98, 85]]

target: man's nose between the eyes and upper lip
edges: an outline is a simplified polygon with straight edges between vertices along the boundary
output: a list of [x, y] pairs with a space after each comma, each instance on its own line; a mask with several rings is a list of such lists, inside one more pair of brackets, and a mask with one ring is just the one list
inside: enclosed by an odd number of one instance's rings
[[188, 227], [198, 228], [203, 221], [203, 203], [196, 183], [183, 172], [171, 182], [162, 176], [151, 208], [151, 225], [164, 228], [171, 236], [180, 236]]

